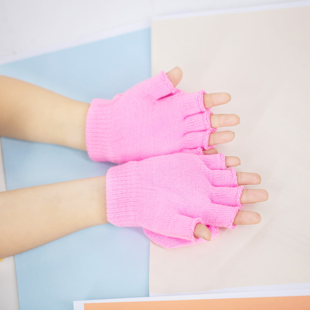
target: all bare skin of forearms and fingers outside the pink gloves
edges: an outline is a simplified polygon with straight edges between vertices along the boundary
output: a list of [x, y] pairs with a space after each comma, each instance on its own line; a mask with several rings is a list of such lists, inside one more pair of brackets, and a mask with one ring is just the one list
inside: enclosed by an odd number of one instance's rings
[[[176, 86], [182, 71], [167, 73]], [[228, 103], [228, 93], [204, 95], [206, 108]], [[89, 104], [13, 78], [0, 76], [0, 135], [27, 141], [59, 144], [86, 151], [85, 119]], [[235, 114], [211, 115], [212, 127], [235, 126]], [[232, 141], [232, 131], [215, 132], [209, 144]], [[203, 151], [217, 153], [215, 148]], [[225, 157], [226, 166], [240, 165], [238, 157]], [[259, 184], [256, 173], [237, 172], [239, 185]], [[245, 189], [241, 203], [268, 199], [264, 189]], [[233, 224], [258, 224], [257, 212], [239, 210]], [[40, 185], [0, 193], [0, 258], [15, 255], [78, 230], [108, 223], [105, 176]], [[205, 225], [197, 224], [195, 237], [210, 240]]]

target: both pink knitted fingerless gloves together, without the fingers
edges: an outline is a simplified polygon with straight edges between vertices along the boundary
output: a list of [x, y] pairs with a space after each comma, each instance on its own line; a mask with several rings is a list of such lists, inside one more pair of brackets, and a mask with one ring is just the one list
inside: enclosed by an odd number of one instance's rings
[[166, 248], [204, 242], [205, 224], [217, 237], [233, 229], [243, 205], [236, 171], [209, 149], [210, 109], [204, 91], [176, 89], [164, 72], [112, 100], [94, 99], [86, 117], [86, 146], [94, 161], [125, 163], [106, 176], [108, 221], [139, 226]]

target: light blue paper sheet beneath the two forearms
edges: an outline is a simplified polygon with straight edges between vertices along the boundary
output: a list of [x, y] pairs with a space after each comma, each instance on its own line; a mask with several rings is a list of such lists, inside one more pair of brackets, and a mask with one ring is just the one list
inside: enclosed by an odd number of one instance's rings
[[[1, 65], [79, 101], [112, 98], [151, 76], [150, 29]], [[7, 190], [104, 175], [111, 163], [51, 144], [2, 138]], [[73, 309], [73, 300], [148, 296], [149, 239], [105, 224], [15, 256], [21, 310]]]

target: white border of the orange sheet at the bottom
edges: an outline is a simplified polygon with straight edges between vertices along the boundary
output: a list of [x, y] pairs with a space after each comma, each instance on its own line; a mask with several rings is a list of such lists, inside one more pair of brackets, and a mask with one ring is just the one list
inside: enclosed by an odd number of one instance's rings
[[252, 298], [252, 297], [285, 297], [285, 296], [309, 296], [310, 289], [303, 290], [280, 290], [265, 292], [240, 292], [240, 293], [220, 293], [220, 294], [200, 294], [182, 296], [162, 296], [162, 297], [138, 297], [120, 299], [99, 299], [74, 301], [74, 310], [84, 310], [85, 303], [118, 303], [132, 301], [158, 301], [158, 300], [192, 300], [192, 299], [228, 299], [228, 298]]

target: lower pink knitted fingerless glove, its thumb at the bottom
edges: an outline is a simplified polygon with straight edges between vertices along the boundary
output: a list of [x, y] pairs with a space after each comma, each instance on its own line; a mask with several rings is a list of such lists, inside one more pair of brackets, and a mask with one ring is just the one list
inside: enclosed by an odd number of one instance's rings
[[143, 227], [166, 248], [204, 242], [195, 238], [205, 224], [212, 238], [219, 227], [233, 229], [243, 186], [226, 170], [224, 154], [175, 153], [114, 166], [106, 176], [108, 221]]

